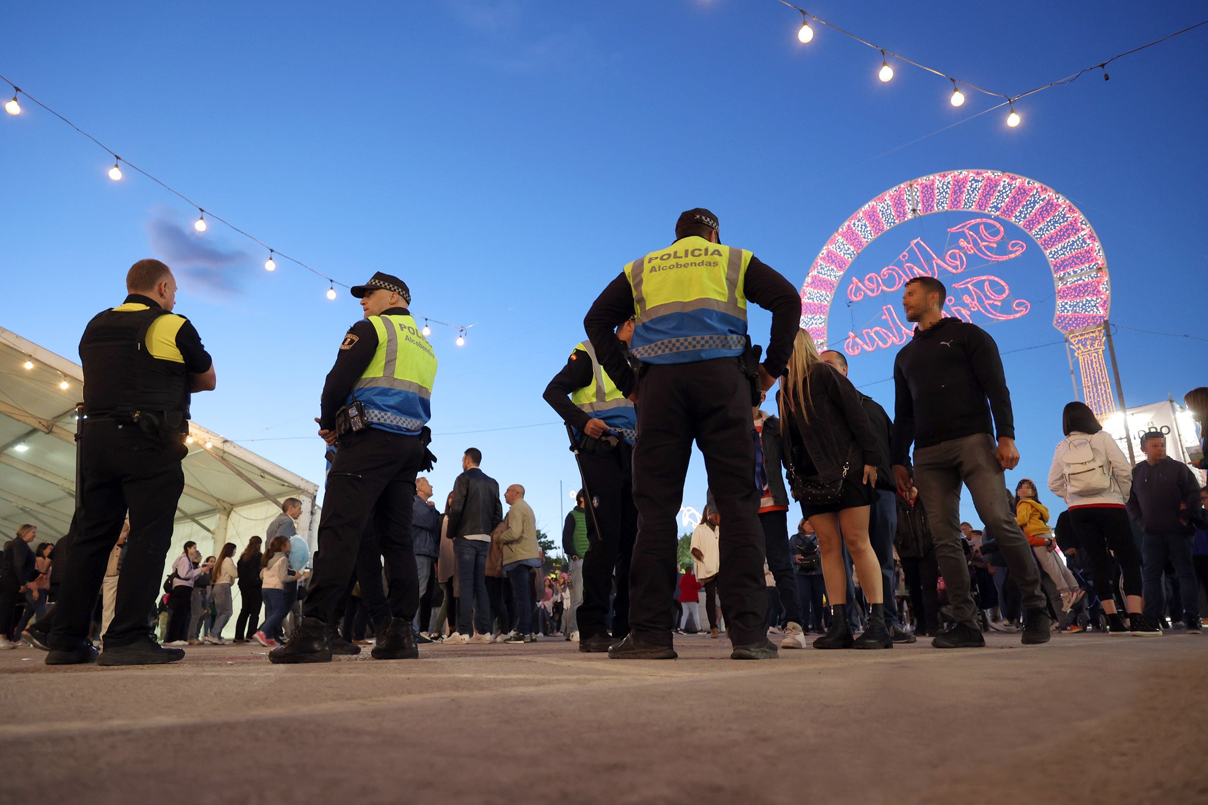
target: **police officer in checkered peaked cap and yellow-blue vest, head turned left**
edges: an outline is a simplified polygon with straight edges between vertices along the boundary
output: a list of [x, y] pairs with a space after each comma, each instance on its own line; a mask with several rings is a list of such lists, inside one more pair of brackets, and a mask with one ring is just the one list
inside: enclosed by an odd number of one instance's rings
[[374, 660], [419, 656], [411, 621], [419, 607], [411, 511], [416, 475], [431, 468], [426, 422], [431, 416], [436, 354], [411, 318], [411, 291], [378, 272], [352, 289], [365, 319], [349, 328], [323, 389], [319, 435], [339, 450], [327, 473], [319, 552], [302, 606], [302, 622], [272, 662], [330, 662], [329, 624], [353, 577], [372, 519], [390, 578], [390, 621], [372, 650]]

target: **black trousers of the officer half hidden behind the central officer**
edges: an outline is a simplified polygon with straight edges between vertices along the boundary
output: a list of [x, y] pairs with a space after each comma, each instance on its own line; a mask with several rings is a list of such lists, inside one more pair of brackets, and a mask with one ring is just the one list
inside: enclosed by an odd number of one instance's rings
[[[612, 601], [612, 636], [629, 633], [629, 562], [638, 535], [638, 508], [633, 503], [633, 448], [622, 441], [604, 456], [580, 453], [583, 485], [591, 499], [587, 533], [591, 548], [583, 556], [583, 602], [579, 606], [580, 639], [608, 633], [609, 600]], [[599, 533], [596, 523], [599, 523]]]

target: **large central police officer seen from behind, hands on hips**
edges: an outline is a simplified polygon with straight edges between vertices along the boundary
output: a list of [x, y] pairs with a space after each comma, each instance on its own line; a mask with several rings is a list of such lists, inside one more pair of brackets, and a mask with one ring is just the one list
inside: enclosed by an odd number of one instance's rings
[[[772, 312], [767, 359], [748, 348], [747, 300]], [[626, 363], [612, 329], [637, 313]], [[718, 592], [730, 625], [733, 659], [771, 659], [763, 591], [763, 532], [759, 521], [751, 405], [776, 382], [792, 352], [801, 318], [796, 290], [750, 251], [722, 245], [718, 218], [691, 209], [675, 242], [634, 260], [600, 294], [583, 328], [605, 371], [638, 404], [633, 498], [638, 538], [629, 569], [629, 636], [614, 659], [672, 659], [676, 567], [675, 517], [684, 497], [692, 441], [704, 453], [709, 488], [721, 516]]]

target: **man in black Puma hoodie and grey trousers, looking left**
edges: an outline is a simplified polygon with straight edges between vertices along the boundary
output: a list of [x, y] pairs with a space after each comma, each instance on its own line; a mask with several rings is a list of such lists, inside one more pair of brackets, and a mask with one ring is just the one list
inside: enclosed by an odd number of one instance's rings
[[906, 283], [902, 307], [906, 319], [918, 326], [914, 338], [894, 360], [896, 400], [890, 451], [894, 476], [900, 488], [911, 487], [907, 457], [914, 442], [913, 483], [931, 521], [935, 558], [957, 621], [931, 644], [936, 648], [986, 644], [960, 545], [962, 483], [969, 487], [982, 522], [994, 532], [1023, 595], [1027, 619], [1022, 642], [1046, 643], [1052, 621], [1040, 589], [1040, 572], [1028, 539], [1003, 496], [1003, 471], [1020, 463], [1003, 360], [998, 344], [985, 330], [957, 318], [943, 318], [947, 295], [943, 283], [934, 277], [914, 277]]

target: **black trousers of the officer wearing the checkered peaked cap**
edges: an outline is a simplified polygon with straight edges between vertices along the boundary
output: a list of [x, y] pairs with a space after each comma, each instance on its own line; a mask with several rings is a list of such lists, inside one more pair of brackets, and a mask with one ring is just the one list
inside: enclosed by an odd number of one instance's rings
[[[389, 606], [394, 618], [412, 620], [419, 608], [416, 555], [411, 545], [411, 512], [416, 474], [424, 461], [419, 436], [366, 428], [341, 436], [327, 473], [319, 552], [307, 587], [302, 614], [333, 622], [336, 607], [358, 568], [361, 551], [385, 558], [390, 577]], [[378, 546], [366, 550], [372, 522]], [[364, 591], [365, 583], [361, 579]], [[367, 603], [367, 602], [366, 602]]]

